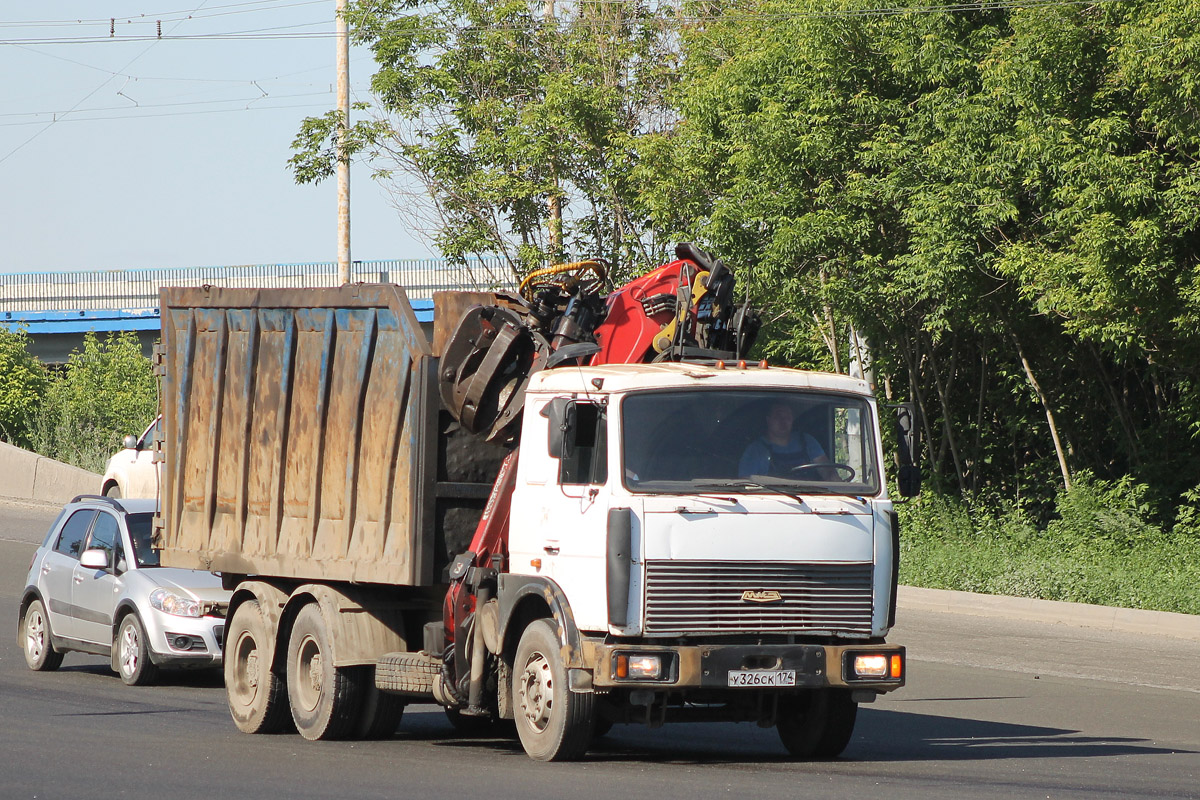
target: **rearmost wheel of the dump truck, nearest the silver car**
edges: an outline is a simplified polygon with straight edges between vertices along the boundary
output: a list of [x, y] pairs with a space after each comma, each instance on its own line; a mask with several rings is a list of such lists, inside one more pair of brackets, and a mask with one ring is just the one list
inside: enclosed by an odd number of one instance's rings
[[266, 655], [272, 639], [257, 600], [238, 606], [226, 627], [224, 678], [229, 716], [242, 733], [277, 733], [288, 723], [283, 681]]

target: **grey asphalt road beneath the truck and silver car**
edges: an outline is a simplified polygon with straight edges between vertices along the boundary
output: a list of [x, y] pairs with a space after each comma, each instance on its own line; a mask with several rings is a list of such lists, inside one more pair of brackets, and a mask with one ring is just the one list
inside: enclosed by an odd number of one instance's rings
[[908, 686], [862, 706], [834, 762], [752, 724], [617, 726], [575, 764], [454, 735], [412, 706], [391, 740], [247, 736], [220, 676], [131, 688], [106, 660], [25, 668], [12, 632], [55, 510], [0, 501], [0, 799], [1200, 798], [1200, 643], [958, 614], [901, 616]]

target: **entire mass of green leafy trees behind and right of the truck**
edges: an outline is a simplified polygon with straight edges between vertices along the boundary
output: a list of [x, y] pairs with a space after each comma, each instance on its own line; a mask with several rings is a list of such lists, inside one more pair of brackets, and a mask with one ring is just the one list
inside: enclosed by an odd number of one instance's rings
[[773, 360], [869, 343], [935, 491], [1050, 518], [1078, 475], [1128, 477], [1192, 513], [1200, 12], [912, 7], [360, 2], [377, 114], [341, 154], [337, 114], [306, 121], [293, 168], [416, 175], [444, 253], [516, 272], [702, 242]]

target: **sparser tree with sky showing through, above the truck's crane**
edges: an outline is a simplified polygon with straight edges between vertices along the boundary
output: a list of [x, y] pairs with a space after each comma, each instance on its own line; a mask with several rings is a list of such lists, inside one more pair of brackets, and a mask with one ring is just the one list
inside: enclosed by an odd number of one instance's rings
[[[444, 255], [498, 254], [509, 277], [596, 257], [628, 273], [659, 255], [630, 182], [632, 143], [668, 121], [674, 38], [659, 8], [367, 0], [348, 16], [379, 66], [373, 119], [353, 126], [341, 157], [365, 155], [418, 229], [413, 213], [431, 201]], [[304, 122], [298, 181], [335, 172], [340, 124], [337, 112]], [[403, 199], [413, 180], [425, 201]]]

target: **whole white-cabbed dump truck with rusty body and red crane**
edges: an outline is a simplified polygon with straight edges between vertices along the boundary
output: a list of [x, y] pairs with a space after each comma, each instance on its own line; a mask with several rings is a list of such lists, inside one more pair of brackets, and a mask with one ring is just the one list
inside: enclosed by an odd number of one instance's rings
[[703, 251], [605, 278], [415, 311], [392, 284], [162, 289], [156, 545], [233, 591], [239, 729], [388, 736], [437, 703], [539, 760], [674, 721], [821, 758], [904, 685], [872, 387], [748, 362], [757, 320]]

